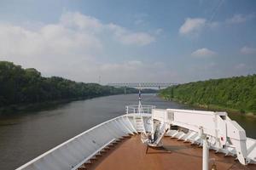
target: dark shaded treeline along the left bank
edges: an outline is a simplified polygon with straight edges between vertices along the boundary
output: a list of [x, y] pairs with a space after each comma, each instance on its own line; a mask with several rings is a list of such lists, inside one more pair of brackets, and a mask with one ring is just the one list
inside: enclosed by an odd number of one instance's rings
[[[126, 94], [131, 93], [137, 93], [137, 89], [126, 88]], [[0, 61], [0, 107], [59, 99], [89, 99], [110, 94], [124, 94], [124, 88], [73, 82], [61, 77], [42, 77], [36, 69], [23, 69], [20, 65]]]

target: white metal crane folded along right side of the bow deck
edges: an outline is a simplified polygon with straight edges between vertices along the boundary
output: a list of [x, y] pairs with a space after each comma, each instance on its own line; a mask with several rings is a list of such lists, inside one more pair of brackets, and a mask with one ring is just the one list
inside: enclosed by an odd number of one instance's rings
[[237, 122], [231, 121], [226, 112], [154, 109], [152, 118], [188, 129], [188, 135], [179, 131], [170, 131], [172, 133], [167, 135], [178, 139], [184, 137], [184, 141], [190, 141], [192, 144], [203, 145], [200, 135], [202, 127], [211, 149], [237, 156], [243, 165], [248, 162], [256, 163], [256, 140], [247, 138], [244, 129]]

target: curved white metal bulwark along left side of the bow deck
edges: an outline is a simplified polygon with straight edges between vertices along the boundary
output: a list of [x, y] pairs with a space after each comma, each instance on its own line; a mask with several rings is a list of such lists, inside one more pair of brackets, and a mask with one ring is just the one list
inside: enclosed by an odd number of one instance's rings
[[[138, 115], [118, 116], [107, 122], [102, 122], [18, 167], [17, 170], [75, 169], [113, 142], [113, 139], [137, 133], [136, 127], [131, 122], [133, 116]], [[144, 114], [140, 116], [148, 117]]]

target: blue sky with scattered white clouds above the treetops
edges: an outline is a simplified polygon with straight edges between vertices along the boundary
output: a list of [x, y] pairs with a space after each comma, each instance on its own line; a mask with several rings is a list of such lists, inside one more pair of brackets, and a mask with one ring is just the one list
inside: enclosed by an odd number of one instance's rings
[[0, 60], [77, 82], [256, 73], [254, 0], [1, 0]]

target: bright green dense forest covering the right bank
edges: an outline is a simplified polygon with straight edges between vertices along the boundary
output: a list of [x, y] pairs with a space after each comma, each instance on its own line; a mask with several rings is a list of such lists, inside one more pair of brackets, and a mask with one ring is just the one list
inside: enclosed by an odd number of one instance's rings
[[164, 99], [256, 114], [256, 75], [189, 82], [160, 91]]

